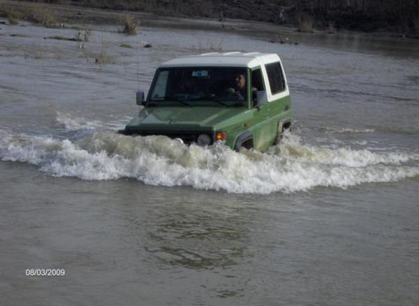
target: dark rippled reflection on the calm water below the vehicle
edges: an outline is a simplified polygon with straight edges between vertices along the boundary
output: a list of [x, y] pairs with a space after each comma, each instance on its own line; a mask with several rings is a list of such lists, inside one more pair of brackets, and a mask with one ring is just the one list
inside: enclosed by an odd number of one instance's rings
[[[170, 213], [170, 212], [169, 212]], [[153, 247], [146, 251], [166, 265], [191, 269], [228, 268], [237, 265], [246, 250], [240, 243], [246, 226], [226, 224], [216, 215], [195, 214], [193, 219], [182, 213], [162, 214], [160, 224], [148, 226]], [[189, 249], [179, 248], [189, 246]]]

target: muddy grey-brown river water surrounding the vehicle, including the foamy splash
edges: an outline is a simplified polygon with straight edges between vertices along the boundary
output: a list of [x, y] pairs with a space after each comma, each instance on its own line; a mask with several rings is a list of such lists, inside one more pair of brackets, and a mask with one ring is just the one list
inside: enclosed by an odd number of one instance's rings
[[[418, 305], [418, 41], [25, 25], [0, 30], [4, 305]], [[216, 48], [281, 56], [281, 145], [114, 133], [156, 66]]]

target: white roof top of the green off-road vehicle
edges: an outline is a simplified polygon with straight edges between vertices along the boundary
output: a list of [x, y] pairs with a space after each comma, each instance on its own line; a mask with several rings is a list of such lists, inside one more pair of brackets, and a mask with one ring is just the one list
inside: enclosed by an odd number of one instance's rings
[[279, 60], [279, 56], [274, 53], [212, 52], [170, 59], [170, 61], [161, 64], [160, 67], [229, 66], [255, 68], [261, 64], [270, 64]]

